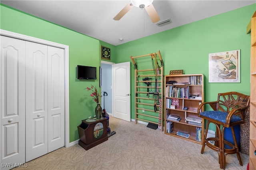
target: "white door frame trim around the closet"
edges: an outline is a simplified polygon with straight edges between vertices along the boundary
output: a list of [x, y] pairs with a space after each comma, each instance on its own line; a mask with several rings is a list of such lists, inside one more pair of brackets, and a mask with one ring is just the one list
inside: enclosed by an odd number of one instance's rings
[[[6, 31], [6, 30], [2, 30], [0, 29], [0, 35], [2, 36], [7, 36], [7, 37], [11, 37], [11, 38], [16, 38], [16, 39], [20, 39], [20, 40], [26, 40], [26, 41], [30, 41], [30, 42], [35, 42], [35, 43], [41, 43], [44, 45], [50, 45], [53, 47], [58, 47], [58, 48], [62, 48], [64, 49], [64, 79], [65, 79], [65, 85], [64, 85], [64, 97], [65, 97], [65, 122], [64, 122], [64, 126], [65, 126], [65, 147], [68, 148], [70, 146], [70, 141], [69, 141], [69, 46], [68, 45], [64, 45], [64, 44], [60, 44], [60, 43], [55, 43], [55, 42], [50, 42], [47, 40], [42, 40], [39, 38], [34, 38], [34, 37], [30, 37], [30, 36], [26, 36], [23, 34], [18, 34], [15, 32], [10, 32], [10, 31]], [[0, 126], [1, 126], [1, 122], [0, 122]], [[1, 144], [1, 141], [0, 141]]]

